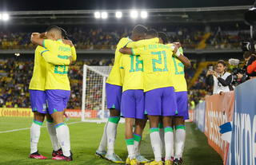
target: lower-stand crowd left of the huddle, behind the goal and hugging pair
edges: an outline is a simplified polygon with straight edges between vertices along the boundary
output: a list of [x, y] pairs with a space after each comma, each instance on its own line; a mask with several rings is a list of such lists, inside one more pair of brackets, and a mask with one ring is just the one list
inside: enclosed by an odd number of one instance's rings
[[[86, 65], [113, 65], [114, 59], [76, 61], [70, 66], [68, 76], [70, 77], [71, 94], [67, 108], [82, 107], [82, 66]], [[34, 61], [11, 61], [0, 63], [0, 107], [6, 108], [30, 108], [29, 84], [33, 74]], [[10, 81], [6, 81], [6, 79]], [[98, 82], [98, 81], [97, 81]], [[95, 88], [94, 88], [94, 92]], [[97, 93], [94, 93], [97, 94]], [[96, 95], [97, 96], [97, 95]], [[91, 96], [86, 96], [86, 98]], [[99, 97], [99, 96], [98, 96]], [[89, 99], [92, 101], [92, 99]], [[99, 106], [99, 100], [98, 100]], [[90, 106], [89, 106], [90, 105]], [[86, 108], [91, 108], [95, 103], [90, 103]], [[97, 106], [97, 107], [98, 107]]]

